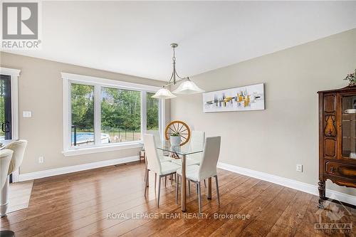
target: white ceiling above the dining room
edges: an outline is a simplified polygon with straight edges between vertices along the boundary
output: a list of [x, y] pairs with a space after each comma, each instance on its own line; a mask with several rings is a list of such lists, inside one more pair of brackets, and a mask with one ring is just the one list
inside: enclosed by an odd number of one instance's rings
[[356, 2], [43, 1], [42, 49], [13, 51], [117, 73], [192, 76], [356, 28]]

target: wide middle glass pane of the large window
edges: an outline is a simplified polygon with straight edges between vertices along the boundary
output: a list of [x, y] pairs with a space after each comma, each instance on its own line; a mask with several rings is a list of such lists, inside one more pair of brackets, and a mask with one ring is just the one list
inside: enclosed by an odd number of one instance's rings
[[141, 140], [140, 91], [102, 88], [101, 100], [101, 142]]

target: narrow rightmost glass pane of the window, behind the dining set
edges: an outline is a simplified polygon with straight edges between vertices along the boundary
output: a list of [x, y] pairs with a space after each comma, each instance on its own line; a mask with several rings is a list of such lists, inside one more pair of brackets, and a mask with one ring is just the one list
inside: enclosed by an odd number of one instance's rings
[[159, 130], [159, 100], [152, 98], [155, 93], [147, 93], [147, 131]]

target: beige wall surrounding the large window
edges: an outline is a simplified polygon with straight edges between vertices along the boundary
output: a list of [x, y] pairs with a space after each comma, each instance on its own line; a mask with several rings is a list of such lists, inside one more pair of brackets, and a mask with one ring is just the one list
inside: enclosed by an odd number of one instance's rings
[[[130, 75], [105, 72], [50, 60], [30, 58], [1, 52], [1, 67], [21, 70], [19, 77], [19, 137], [28, 140], [28, 147], [20, 173], [37, 172], [107, 159], [131, 157], [138, 149], [64, 157], [63, 150], [63, 79], [61, 72], [122, 80], [130, 83], [161, 86], [163, 82]], [[169, 121], [169, 103], [167, 121]], [[31, 110], [31, 118], [23, 118], [22, 111]], [[44, 163], [38, 164], [38, 157]]]

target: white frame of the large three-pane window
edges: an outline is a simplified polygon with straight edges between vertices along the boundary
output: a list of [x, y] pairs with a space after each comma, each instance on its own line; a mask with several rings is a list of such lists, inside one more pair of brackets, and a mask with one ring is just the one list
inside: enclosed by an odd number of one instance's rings
[[[96, 78], [87, 75], [61, 73], [63, 78], [63, 154], [73, 156], [95, 152], [108, 152], [120, 149], [132, 149], [142, 147], [142, 137], [147, 130], [147, 100], [146, 93], [156, 93], [159, 87], [137, 83], [127, 83], [120, 80]], [[85, 147], [71, 146], [71, 85], [91, 85], [94, 87], [94, 139], [95, 144]], [[101, 88], [116, 88], [120, 90], [135, 90], [141, 95], [141, 140], [134, 142], [100, 143], [101, 134]], [[159, 133], [162, 136], [165, 118], [165, 102], [159, 100]]]

